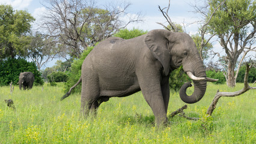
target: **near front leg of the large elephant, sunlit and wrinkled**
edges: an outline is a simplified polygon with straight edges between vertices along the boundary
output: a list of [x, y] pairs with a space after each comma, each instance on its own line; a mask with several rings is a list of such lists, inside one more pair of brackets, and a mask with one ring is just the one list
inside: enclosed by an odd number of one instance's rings
[[153, 77], [141, 77], [139, 79], [139, 86], [141, 87], [142, 94], [148, 105], [151, 107], [156, 118], [156, 126], [167, 124], [165, 101], [162, 95], [160, 86], [160, 78], [154, 79]]

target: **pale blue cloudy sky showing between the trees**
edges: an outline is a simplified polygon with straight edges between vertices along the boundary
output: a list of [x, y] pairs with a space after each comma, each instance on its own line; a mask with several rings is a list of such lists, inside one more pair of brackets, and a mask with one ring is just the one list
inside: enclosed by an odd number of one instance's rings
[[[96, 0], [97, 5], [102, 6], [107, 2], [120, 2], [118, 0]], [[122, 0], [123, 1], [123, 0]], [[128, 8], [129, 14], [141, 13], [144, 22], [132, 23], [127, 26], [128, 29], [138, 28], [144, 31], [150, 31], [152, 29], [163, 29], [163, 26], [157, 24], [156, 22], [166, 23], [165, 18], [159, 11], [158, 5], [161, 8], [168, 7], [169, 0], [125, 0], [131, 5]], [[197, 0], [200, 1], [200, 0]], [[27, 10], [36, 19], [33, 23], [33, 28], [37, 28], [37, 23], [40, 20], [41, 14], [46, 11], [46, 9], [41, 4], [43, 0], [0, 0], [0, 4], [10, 4], [14, 10]], [[171, 0], [171, 6], [168, 11], [169, 17], [171, 17], [172, 22], [185, 25], [187, 34], [196, 34], [198, 31], [198, 26], [200, 24], [195, 23], [200, 20], [200, 16], [193, 13], [194, 8], [190, 5], [195, 4], [195, 0]], [[126, 17], [123, 17], [125, 20]], [[192, 24], [194, 23], [194, 24]], [[220, 47], [219, 43], [213, 43], [214, 47]], [[220, 49], [221, 50], [221, 49]], [[55, 62], [49, 62], [46, 67], [52, 67]]]

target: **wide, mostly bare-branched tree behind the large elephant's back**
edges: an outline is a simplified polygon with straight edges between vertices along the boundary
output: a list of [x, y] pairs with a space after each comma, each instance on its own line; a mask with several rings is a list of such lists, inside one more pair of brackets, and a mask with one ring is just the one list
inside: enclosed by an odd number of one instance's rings
[[108, 5], [97, 8], [95, 0], [46, 0], [47, 13], [44, 14], [42, 28], [54, 38], [59, 48], [73, 58], [79, 58], [89, 46], [111, 37], [131, 22], [141, 21], [133, 17], [123, 23], [121, 16], [126, 15], [130, 4]]

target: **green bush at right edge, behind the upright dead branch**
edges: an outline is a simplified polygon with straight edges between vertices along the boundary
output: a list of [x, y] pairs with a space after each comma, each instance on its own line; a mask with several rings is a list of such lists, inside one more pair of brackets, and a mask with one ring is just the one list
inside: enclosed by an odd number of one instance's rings
[[[243, 83], [243, 79], [245, 77], [245, 70], [246, 70], [246, 65], [242, 65], [242, 67], [240, 67], [237, 78], [236, 78], [236, 82], [239, 83]], [[256, 80], [256, 68], [255, 67], [251, 67], [250, 71], [249, 71], [249, 75], [248, 75], [248, 83], [254, 83]]]

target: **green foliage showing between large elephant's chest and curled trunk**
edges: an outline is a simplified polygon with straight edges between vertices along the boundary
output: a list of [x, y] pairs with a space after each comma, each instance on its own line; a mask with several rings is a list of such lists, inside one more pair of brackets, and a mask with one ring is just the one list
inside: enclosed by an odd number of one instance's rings
[[169, 76], [169, 88], [173, 91], [179, 91], [181, 86], [189, 80], [187, 74], [184, 73], [183, 67], [175, 69]]

